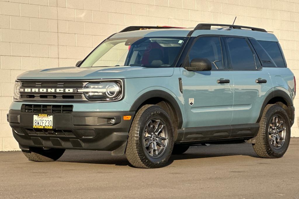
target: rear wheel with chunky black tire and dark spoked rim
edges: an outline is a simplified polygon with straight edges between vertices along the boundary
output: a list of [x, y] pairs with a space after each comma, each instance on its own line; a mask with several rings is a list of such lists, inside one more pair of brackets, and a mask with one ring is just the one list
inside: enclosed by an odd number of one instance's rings
[[279, 105], [266, 105], [253, 149], [262, 158], [283, 157], [289, 147], [291, 125], [286, 111]]

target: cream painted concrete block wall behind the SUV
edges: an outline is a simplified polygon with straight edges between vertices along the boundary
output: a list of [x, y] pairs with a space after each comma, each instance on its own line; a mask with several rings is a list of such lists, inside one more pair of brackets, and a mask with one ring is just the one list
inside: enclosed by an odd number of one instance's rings
[[0, 0], [0, 151], [19, 150], [6, 122], [18, 74], [74, 66], [126, 26], [231, 24], [235, 16], [237, 25], [273, 32], [299, 78], [299, 0]]

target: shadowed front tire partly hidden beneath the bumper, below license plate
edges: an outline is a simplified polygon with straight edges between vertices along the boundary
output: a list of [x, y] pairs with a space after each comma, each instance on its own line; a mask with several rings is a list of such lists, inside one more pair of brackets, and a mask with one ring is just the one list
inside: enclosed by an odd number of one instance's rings
[[53, 162], [58, 160], [65, 149], [44, 149], [37, 147], [30, 147], [29, 150], [23, 150], [23, 154], [34, 162]]

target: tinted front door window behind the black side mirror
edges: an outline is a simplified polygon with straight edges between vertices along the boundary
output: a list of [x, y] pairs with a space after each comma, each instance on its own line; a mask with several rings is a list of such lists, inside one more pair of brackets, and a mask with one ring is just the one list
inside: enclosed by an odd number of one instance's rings
[[189, 52], [189, 63], [196, 58], [209, 59], [212, 64], [212, 70], [223, 69], [220, 38], [198, 38]]

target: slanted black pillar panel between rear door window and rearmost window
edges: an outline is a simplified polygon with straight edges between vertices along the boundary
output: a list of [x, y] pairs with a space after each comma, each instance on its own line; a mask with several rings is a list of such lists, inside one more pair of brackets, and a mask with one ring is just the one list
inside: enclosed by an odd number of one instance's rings
[[276, 67], [273, 59], [255, 39], [249, 39], [263, 67]]

